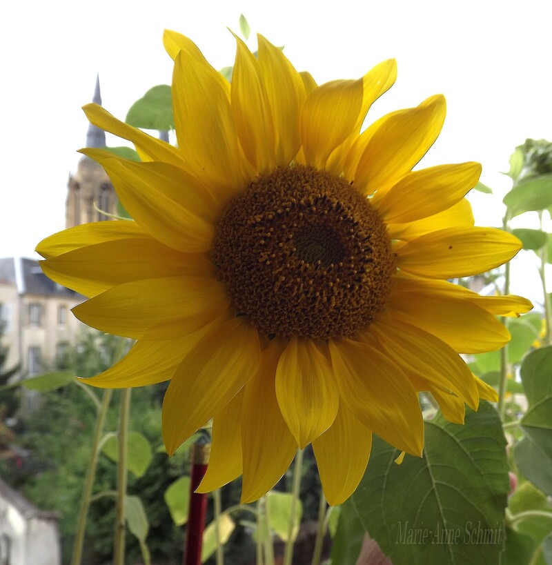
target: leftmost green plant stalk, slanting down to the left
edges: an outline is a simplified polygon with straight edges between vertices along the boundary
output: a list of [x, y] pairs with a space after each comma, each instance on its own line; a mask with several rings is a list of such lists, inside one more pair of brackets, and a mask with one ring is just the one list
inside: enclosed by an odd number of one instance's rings
[[112, 395], [113, 390], [111, 388], [106, 388], [106, 390], [103, 390], [100, 408], [97, 411], [96, 426], [94, 428], [94, 435], [92, 436], [90, 462], [88, 462], [88, 469], [86, 470], [86, 478], [84, 479], [83, 493], [81, 498], [81, 508], [79, 510], [79, 518], [77, 519], [77, 531], [75, 532], [75, 542], [73, 543], [71, 565], [80, 565], [81, 562], [84, 533], [86, 530], [86, 517], [88, 515], [88, 508], [90, 507], [90, 502], [92, 499], [92, 488], [94, 486], [96, 467], [98, 464], [99, 444], [101, 442], [103, 426], [106, 423], [106, 416]]

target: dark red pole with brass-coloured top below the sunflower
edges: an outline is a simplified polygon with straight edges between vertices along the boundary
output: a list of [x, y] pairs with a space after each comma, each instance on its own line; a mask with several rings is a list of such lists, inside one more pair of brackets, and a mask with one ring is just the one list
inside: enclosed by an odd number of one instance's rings
[[188, 508], [188, 524], [186, 524], [186, 543], [184, 545], [183, 565], [201, 565], [201, 542], [205, 528], [207, 495], [195, 493], [207, 470], [210, 444], [197, 442], [190, 453], [192, 468], [190, 472], [190, 507]]

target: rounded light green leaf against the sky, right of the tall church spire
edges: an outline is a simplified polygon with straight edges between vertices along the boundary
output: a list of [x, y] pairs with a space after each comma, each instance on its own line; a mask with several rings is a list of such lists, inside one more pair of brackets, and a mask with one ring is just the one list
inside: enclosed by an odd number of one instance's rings
[[130, 126], [144, 130], [174, 130], [170, 86], [159, 84], [150, 88], [144, 97], [130, 106], [125, 121]]

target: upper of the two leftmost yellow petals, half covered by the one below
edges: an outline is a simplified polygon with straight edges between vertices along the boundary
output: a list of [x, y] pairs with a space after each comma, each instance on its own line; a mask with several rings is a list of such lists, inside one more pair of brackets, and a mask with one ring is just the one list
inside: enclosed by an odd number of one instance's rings
[[148, 237], [135, 222], [126, 220], [96, 221], [81, 224], [46, 237], [37, 245], [37, 253], [45, 259], [105, 241]]

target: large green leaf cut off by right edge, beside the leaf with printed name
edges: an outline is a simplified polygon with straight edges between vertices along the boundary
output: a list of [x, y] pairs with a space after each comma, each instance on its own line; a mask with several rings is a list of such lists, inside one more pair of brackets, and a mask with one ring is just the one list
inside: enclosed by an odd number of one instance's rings
[[552, 347], [531, 352], [521, 368], [529, 407], [522, 418], [524, 439], [515, 446], [521, 473], [552, 495]]

